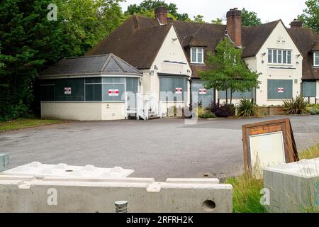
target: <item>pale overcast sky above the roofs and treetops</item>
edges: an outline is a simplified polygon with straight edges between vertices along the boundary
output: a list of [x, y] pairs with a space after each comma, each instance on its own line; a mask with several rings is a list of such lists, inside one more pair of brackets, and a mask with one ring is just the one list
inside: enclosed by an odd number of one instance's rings
[[[276, 21], [281, 19], [284, 24], [289, 27], [289, 23], [293, 21], [298, 14], [303, 13], [306, 8], [305, 0], [165, 0], [168, 4], [177, 4], [179, 13], [188, 13], [190, 18], [201, 14], [204, 21], [210, 22], [216, 18], [225, 17], [229, 9], [237, 7], [245, 8], [248, 11], [254, 11], [262, 23]], [[123, 11], [130, 4], [140, 4], [142, 0], [126, 0], [121, 3]], [[223, 22], [225, 23], [225, 22]]]

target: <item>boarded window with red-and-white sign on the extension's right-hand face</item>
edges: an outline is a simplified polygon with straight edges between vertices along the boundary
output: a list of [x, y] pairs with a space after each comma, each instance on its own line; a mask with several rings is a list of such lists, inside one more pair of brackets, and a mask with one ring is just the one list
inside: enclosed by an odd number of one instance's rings
[[102, 84], [102, 101], [124, 101], [125, 84]]

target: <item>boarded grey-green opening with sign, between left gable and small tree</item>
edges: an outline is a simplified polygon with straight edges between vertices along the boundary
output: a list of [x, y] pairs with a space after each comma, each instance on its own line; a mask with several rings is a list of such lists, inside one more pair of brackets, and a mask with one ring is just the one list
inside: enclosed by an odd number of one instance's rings
[[213, 89], [206, 90], [206, 94], [199, 94], [199, 89], [205, 89], [205, 82], [201, 79], [196, 79], [191, 82], [191, 96], [194, 104], [201, 103], [203, 108], [208, 107], [213, 102]]

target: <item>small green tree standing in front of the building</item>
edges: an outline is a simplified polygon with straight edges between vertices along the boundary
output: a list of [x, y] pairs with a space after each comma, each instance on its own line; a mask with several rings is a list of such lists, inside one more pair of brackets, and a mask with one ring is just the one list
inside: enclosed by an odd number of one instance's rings
[[[199, 72], [201, 79], [206, 81], [206, 89], [228, 91], [230, 89], [230, 104], [233, 92], [246, 92], [258, 87], [259, 74], [251, 72], [242, 60], [242, 49], [224, 38], [218, 43], [216, 52], [208, 52], [206, 64], [210, 70]], [[226, 92], [228, 104], [228, 92]]]

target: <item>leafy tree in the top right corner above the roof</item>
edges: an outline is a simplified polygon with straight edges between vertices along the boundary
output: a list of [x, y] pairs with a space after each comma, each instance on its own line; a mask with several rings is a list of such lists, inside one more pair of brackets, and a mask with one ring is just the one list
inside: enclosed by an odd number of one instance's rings
[[306, 6], [303, 14], [298, 16], [298, 20], [303, 21], [303, 26], [313, 28], [316, 33], [319, 33], [319, 0], [308, 0]]

